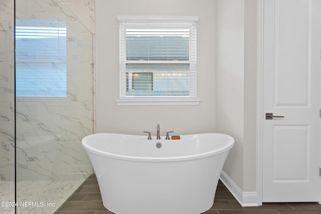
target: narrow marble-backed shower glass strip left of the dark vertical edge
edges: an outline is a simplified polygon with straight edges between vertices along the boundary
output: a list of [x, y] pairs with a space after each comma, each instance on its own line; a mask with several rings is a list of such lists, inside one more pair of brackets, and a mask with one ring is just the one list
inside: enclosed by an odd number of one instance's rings
[[[15, 9], [0, 1], [0, 201], [15, 201]], [[5, 204], [6, 205], [6, 204]], [[8, 204], [9, 205], [9, 204]], [[0, 206], [0, 213], [15, 207]]]

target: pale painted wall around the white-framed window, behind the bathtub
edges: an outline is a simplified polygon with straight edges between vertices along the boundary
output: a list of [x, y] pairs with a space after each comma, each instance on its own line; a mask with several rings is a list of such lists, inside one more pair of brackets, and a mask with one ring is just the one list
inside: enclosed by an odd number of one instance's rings
[[[96, 0], [97, 132], [175, 135], [215, 132], [215, 7], [202, 0]], [[198, 16], [196, 106], [117, 106], [119, 99], [118, 15]]]

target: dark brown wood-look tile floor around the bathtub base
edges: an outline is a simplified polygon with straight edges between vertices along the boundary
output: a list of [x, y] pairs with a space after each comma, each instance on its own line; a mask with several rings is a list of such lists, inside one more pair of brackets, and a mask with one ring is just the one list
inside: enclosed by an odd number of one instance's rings
[[[100, 190], [94, 174], [73, 193], [55, 214], [112, 214], [102, 204]], [[320, 214], [316, 202], [263, 203], [262, 206], [242, 207], [224, 184], [219, 181], [214, 205], [202, 214]], [[139, 214], [139, 213], [132, 213]], [[150, 213], [152, 214], [152, 213]], [[166, 213], [164, 213], [166, 214]]]

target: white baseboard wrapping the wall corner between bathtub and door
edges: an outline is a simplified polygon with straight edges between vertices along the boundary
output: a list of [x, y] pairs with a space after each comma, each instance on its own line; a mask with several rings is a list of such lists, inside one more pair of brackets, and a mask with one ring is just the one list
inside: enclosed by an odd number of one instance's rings
[[243, 192], [224, 171], [221, 172], [220, 180], [241, 206], [258, 206], [257, 192]]

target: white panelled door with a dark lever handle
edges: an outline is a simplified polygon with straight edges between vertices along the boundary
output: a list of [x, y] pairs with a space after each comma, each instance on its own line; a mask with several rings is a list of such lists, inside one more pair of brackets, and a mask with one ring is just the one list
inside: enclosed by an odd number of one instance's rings
[[320, 199], [319, 14], [319, 0], [264, 1], [263, 202]]

